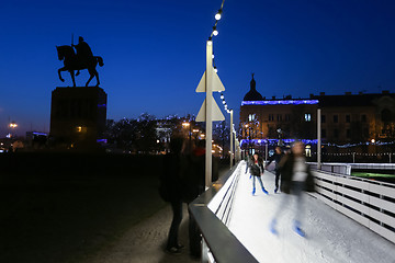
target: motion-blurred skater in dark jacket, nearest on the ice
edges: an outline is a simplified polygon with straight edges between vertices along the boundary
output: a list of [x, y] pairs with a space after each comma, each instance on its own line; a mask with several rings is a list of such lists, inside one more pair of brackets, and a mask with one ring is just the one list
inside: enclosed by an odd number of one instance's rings
[[305, 237], [305, 232], [302, 229], [302, 219], [304, 216], [303, 192], [313, 192], [315, 184], [309, 167], [306, 164], [304, 149], [303, 142], [296, 141], [292, 147], [291, 153], [284, 156], [280, 162], [281, 192], [283, 192], [284, 195], [282, 195], [280, 205], [270, 225], [270, 230], [274, 235], [279, 233], [276, 230], [279, 216], [283, 209], [286, 208], [286, 205], [290, 203], [290, 197], [292, 197], [294, 202], [296, 202], [293, 230], [301, 237]]

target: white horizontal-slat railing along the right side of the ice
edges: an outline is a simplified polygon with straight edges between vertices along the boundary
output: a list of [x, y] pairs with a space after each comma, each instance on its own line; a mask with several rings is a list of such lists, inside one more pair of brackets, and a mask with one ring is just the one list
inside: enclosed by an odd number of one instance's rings
[[313, 195], [395, 243], [395, 184], [314, 171]]

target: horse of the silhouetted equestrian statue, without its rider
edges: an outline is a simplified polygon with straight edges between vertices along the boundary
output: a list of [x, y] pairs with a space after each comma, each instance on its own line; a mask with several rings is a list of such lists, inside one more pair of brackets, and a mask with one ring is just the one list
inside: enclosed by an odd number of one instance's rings
[[[75, 70], [80, 69], [88, 69], [88, 72], [90, 75], [90, 78], [86, 84], [88, 87], [89, 82], [93, 79], [93, 77], [97, 77], [97, 87], [99, 87], [99, 73], [95, 67], [99, 66], [103, 67], [103, 58], [102, 57], [91, 57], [89, 59], [84, 59], [84, 61], [81, 61], [78, 59], [75, 49], [71, 46], [56, 46], [58, 58], [59, 60], [64, 60], [65, 67], [58, 69], [58, 75], [60, 81], [65, 82], [65, 80], [61, 78], [61, 71], [69, 71], [71, 79], [72, 79], [72, 87], [76, 87], [76, 79], [75, 79]], [[78, 76], [79, 72], [77, 72], [76, 76]]]

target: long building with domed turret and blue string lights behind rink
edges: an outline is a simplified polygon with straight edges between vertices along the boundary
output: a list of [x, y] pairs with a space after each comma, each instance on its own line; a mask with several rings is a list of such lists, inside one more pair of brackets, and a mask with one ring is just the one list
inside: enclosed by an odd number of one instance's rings
[[252, 76], [240, 107], [241, 141], [266, 144], [317, 139], [317, 110], [321, 110], [324, 144], [360, 144], [395, 139], [395, 93], [346, 92], [311, 94], [308, 99], [262, 96]]

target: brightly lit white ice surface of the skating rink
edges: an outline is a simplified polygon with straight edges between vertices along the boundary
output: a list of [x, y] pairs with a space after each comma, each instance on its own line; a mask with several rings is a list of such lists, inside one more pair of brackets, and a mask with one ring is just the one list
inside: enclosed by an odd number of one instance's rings
[[[251, 195], [252, 180], [245, 174], [245, 163], [235, 195], [230, 231], [259, 262], [375, 262], [395, 263], [395, 244], [370, 229], [336, 211], [319, 199], [305, 194], [303, 229], [306, 238], [292, 230], [294, 206], [292, 196], [274, 194], [274, 174], [262, 175], [264, 195], [257, 182], [257, 194]], [[280, 198], [289, 198], [278, 220], [279, 236], [269, 225]]]

